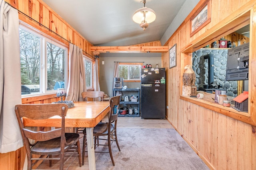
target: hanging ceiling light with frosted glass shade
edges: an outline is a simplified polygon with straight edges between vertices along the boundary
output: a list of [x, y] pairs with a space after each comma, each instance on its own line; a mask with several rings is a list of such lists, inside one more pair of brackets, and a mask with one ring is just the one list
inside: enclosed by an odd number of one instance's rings
[[145, 7], [146, 0], [140, 1], [144, 4], [143, 8], [136, 10], [132, 16], [132, 20], [140, 24], [140, 27], [145, 30], [148, 24], [156, 20], [156, 13], [154, 10]]

